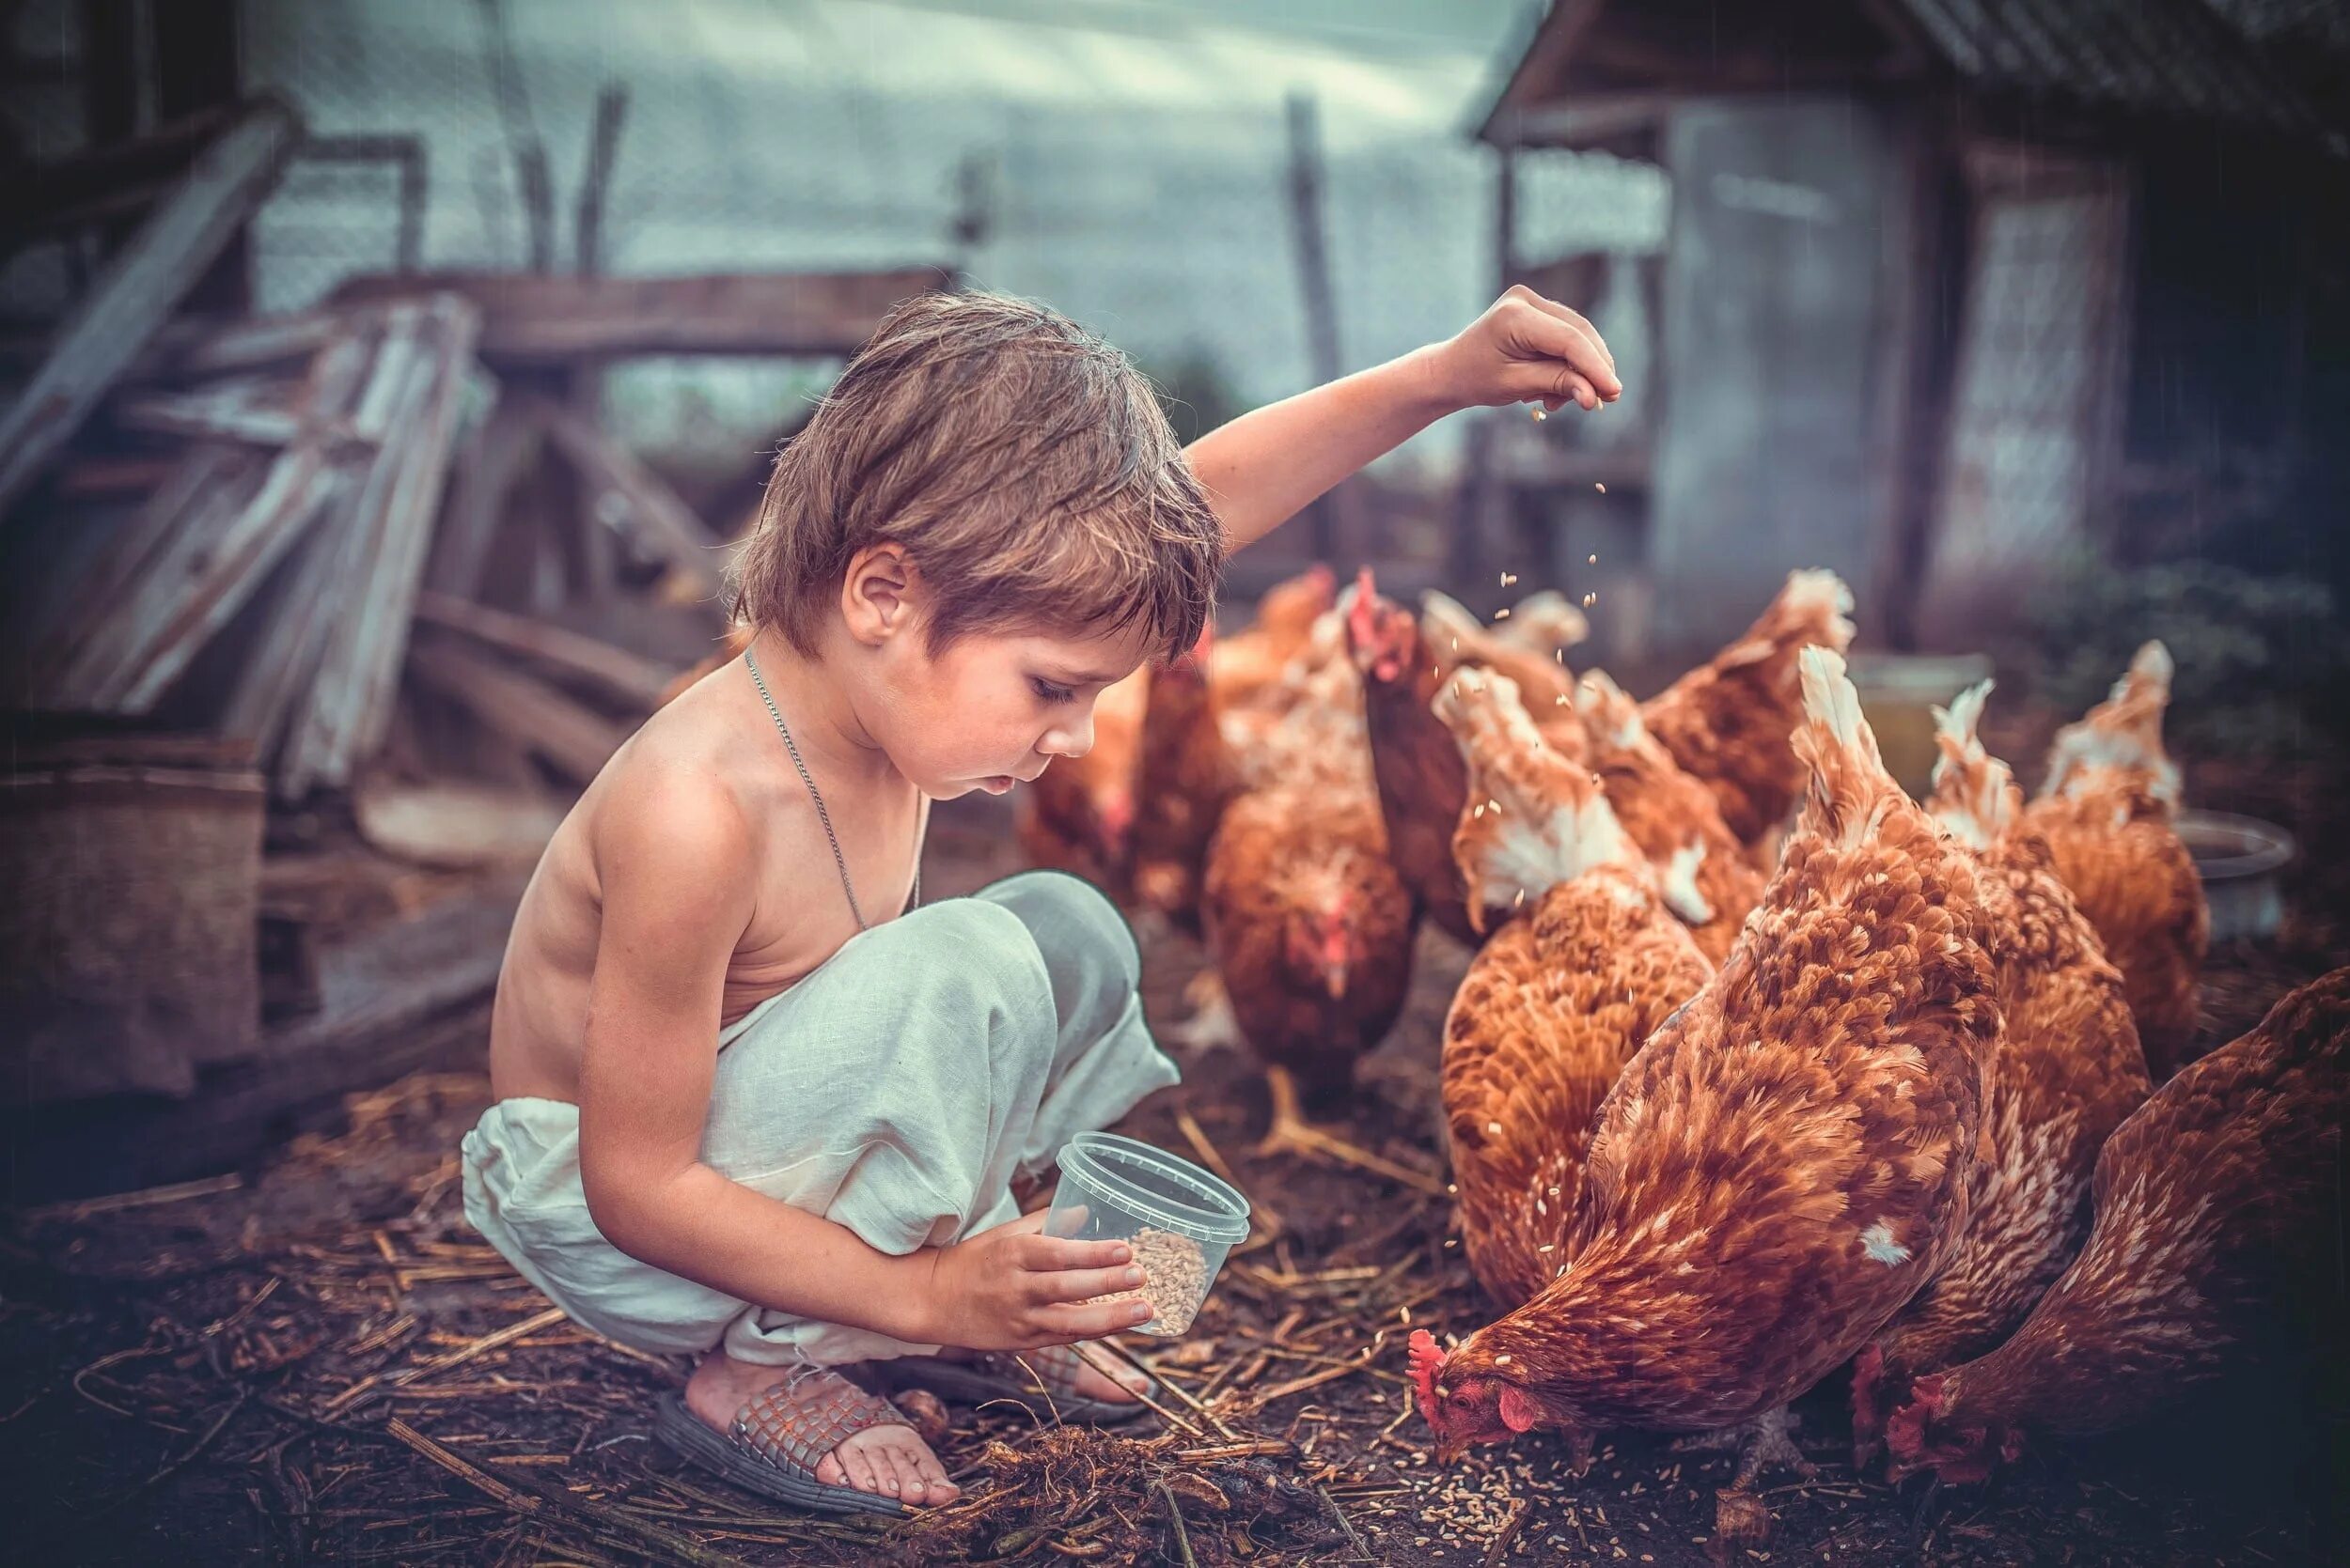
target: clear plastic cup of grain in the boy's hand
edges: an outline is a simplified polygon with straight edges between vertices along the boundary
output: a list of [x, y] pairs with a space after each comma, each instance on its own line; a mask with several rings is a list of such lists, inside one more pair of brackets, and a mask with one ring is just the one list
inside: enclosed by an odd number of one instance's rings
[[1060, 1150], [1043, 1232], [1133, 1246], [1142, 1265], [1137, 1296], [1156, 1307], [1137, 1329], [1173, 1338], [1198, 1317], [1224, 1256], [1248, 1237], [1248, 1199], [1149, 1143], [1081, 1131]]

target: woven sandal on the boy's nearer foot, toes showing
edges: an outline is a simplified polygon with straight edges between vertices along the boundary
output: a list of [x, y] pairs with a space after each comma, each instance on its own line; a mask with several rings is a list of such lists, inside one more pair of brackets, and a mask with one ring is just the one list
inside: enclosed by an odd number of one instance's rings
[[830, 1366], [804, 1366], [752, 1394], [719, 1432], [682, 1397], [660, 1404], [653, 1432], [670, 1448], [724, 1481], [818, 1514], [909, 1514], [905, 1502], [858, 1486], [815, 1479], [815, 1467], [867, 1427], [912, 1427], [898, 1406], [867, 1394]]

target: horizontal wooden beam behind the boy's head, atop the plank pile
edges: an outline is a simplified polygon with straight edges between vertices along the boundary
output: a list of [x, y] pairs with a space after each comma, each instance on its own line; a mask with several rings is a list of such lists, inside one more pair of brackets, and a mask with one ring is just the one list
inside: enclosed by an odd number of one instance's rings
[[482, 359], [503, 369], [623, 354], [851, 354], [898, 300], [949, 286], [954, 272], [935, 265], [703, 277], [423, 272], [355, 277], [334, 303], [463, 293], [482, 307]]

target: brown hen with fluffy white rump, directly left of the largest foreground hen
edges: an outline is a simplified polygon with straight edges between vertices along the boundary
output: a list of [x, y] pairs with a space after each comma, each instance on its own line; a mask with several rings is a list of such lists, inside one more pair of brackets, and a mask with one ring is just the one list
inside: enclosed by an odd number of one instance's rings
[[1657, 897], [1598, 779], [1542, 742], [1516, 681], [1455, 671], [1436, 714], [1476, 800], [1457, 838], [1462, 873], [1525, 892], [1469, 965], [1443, 1035], [1469, 1268], [1516, 1307], [1565, 1268], [1600, 1099], [1713, 965]]

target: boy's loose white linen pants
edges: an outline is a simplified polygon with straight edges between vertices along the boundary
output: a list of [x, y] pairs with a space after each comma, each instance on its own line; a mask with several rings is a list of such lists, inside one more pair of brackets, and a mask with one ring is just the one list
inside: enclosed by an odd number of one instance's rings
[[[703, 1162], [879, 1251], [1018, 1218], [1013, 1176], [1177, 1080], [1142, 1021], [1142, 955], [1093, 885], [1006, 878], [851, 937], [719, 1035]], [[630, 1258], [588, 1214], [578, 1108], [491, 1106], [465, 1134], [465, 1218], [578, 1324], [653, 1354], [928, 1354], [759, 1307]]]

